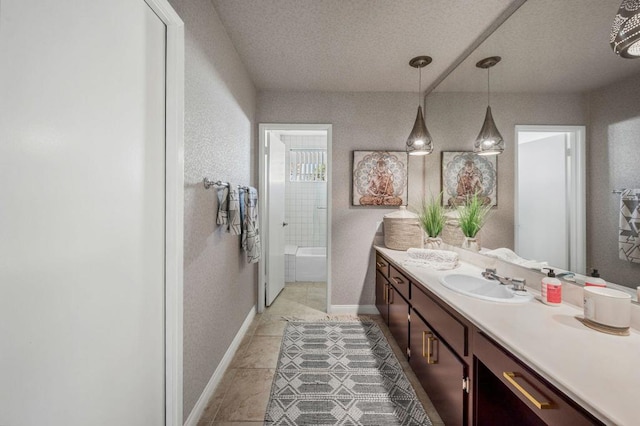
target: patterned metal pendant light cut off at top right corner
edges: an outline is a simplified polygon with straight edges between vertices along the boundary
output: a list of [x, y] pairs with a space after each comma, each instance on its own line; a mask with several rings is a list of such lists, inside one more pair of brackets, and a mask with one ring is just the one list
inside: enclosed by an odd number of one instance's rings
[[611, 26], [609, 44], [623, 58], [640, 58], [640, 0], [624, 0]]

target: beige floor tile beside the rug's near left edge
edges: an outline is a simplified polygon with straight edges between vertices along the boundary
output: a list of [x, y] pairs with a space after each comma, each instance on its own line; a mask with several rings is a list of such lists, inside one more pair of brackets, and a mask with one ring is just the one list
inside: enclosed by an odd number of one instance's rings
[[238, 370], [214, 421], [263, 421], [274, 374], [274, 369]]

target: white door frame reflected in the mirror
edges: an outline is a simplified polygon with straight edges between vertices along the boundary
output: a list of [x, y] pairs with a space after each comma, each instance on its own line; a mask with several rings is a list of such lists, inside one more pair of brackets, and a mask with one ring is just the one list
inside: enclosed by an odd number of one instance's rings
[[[518, 147], [520, 132], [564, 132], [571, 134], [571, 177], [568, 182], [569, 206], [567, 211], [569, 229], [569, 267], [572, 271], [584, 274], [587, 264], [586, 243], [586, 181], [585, 181], [585, 126], [515, 126], [515, 181], [514, 181], [514, 245], [518, 247]], [[573, 172], [575, 170], [575, 172]], [[569, 220], [571, 218], [571, 220]]]

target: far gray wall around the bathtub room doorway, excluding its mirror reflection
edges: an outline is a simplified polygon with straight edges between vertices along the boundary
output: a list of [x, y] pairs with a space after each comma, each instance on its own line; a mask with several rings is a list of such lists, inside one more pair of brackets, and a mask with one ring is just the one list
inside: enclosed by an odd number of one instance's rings
[[[332, 294], [334, 305], [373, 305], [371, 245], [376, 224], [394, 209], [351, 206], [353, 150], [404, 151], [415, 119], [415, 93], [261, 91], [261, 123], [333, 125]], [[409, 162], [409, 200], [421, 196], [422, 159]], [[417, 175], [419, 179], [414, 179]]]

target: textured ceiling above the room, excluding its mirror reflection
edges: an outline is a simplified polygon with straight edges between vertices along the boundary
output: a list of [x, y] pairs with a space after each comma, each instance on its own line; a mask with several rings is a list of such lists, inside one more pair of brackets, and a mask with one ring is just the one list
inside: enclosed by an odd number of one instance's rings
[[522, 0], [212, 3], [259, 89], [416, 91], [411, 58], [433, 57], [424, 89]]

